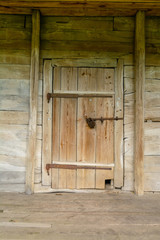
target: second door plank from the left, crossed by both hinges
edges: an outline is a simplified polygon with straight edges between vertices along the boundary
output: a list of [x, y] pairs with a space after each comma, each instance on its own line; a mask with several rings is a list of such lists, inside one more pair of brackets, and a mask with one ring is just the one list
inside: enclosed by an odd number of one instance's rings
[[[61, 91], [77, 90], [77, 68], [61, 68]], [[77, 101], [61, 99], [60, 161], [76, 161]], [[59, 188], [76, 188], [76, 170], [59, 169]]]

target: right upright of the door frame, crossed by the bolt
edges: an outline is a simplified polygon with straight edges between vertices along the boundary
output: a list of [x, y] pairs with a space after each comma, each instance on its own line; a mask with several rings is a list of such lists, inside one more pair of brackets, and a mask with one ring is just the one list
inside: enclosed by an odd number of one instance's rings
[[[123, 60], [119, 59], [115, 81], [115, 116], [123, 118]], [[123, 121], [115, 121], [114, 187], [123, 186]]]

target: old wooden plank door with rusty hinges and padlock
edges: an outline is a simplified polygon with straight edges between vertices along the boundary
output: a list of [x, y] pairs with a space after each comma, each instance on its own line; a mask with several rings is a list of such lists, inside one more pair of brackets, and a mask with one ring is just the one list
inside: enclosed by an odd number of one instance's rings
[[52, 162], [102, 169], [52, 169], [54, 189], [104, 189], [113, 179], [114, 69], [55, 67], [53, 74]]

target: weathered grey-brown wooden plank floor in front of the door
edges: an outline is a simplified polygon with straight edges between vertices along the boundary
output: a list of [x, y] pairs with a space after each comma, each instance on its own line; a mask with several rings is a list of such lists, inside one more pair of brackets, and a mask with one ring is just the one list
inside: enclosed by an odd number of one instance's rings
[[159, 240], [160, 194], [0, 194], [0, 239]]

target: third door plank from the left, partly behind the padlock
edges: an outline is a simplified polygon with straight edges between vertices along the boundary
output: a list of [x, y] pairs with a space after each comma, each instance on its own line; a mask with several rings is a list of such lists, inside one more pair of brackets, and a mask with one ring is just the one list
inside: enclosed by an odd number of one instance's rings
[[[97, 69], [79, 68], [78, 90], [96, 91]], [[77, 161], [95, 162], [96, 130], [90, 129], [86, 117], [95, 117], [96, 98], [78, 99]], [[95, 170], [77, 170], [77, 188], [95, 188]]]

